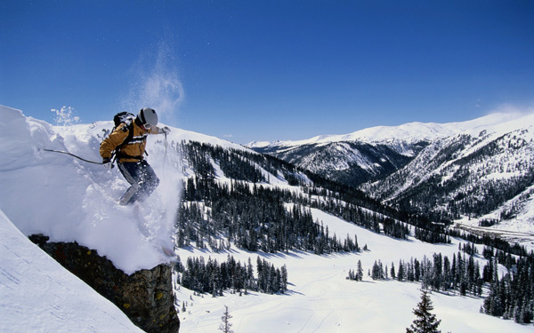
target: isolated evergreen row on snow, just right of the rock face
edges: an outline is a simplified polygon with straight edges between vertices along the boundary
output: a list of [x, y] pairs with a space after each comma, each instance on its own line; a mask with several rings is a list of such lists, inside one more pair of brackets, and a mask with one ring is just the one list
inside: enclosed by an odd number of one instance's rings
[[257, 258], [256, 276], [250, 258], [241, 264], [233, 256], [221, 264], [211, 257], [207, 263], [203, 257], [188, 258], [179, 271], [179, 283], [199, 293], [209, 293], [214, 297], [223, 296], [223, 291], [245, 292], [248, 290], [274, 294], [287, 290], [287, 268], [276, 268], [265, 259]]

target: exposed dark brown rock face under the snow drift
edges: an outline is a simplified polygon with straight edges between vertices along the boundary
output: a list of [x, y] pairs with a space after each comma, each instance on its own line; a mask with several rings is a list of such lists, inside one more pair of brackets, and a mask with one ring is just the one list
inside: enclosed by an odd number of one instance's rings
[[172, 271], [159, 265], [126, 275], [96, 250], [77, 242], [47, 242], [48, 237], [29, 237], [72, 274], [117, 305], [135, 325], [147, 332], [178, 332], [180, 321], [174, 309]]

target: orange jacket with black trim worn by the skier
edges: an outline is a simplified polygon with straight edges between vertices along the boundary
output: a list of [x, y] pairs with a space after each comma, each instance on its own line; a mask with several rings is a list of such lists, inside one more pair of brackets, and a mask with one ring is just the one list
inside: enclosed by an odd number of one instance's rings
[[[152, 126], [149, 131], [145, 131], [134, 121], [131, 126], [131, 131], [134, 131], [132, 139], [117, 151], [117, 161], [120, 163], [141, 161], [144, 158], [143, 155], [147, 144], [147, 136], [149, 134], [159, 134], [162, 132], [158, 126]], [[102, 141], [100, 147], [101, 157], [111, 158], [113, 151], [116, 150], [118, 146], [122, 145], [127, 138], [128, 125], [121, 123], [117, 126], [115, 131], [112, 131], [111, 134], [109, 134], [108, 138]]]

